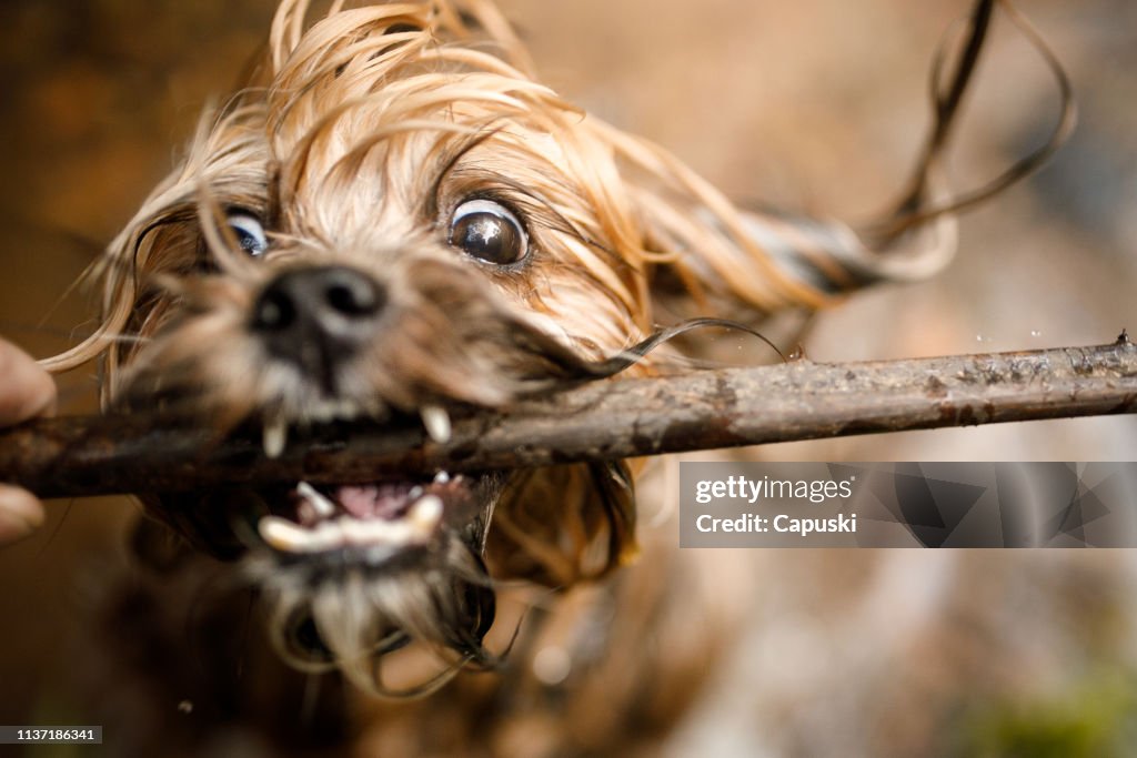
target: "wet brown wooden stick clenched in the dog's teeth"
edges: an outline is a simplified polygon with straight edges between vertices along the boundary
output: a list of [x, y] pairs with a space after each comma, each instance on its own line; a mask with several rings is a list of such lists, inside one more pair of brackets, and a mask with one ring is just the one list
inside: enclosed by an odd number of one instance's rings
[[[599, 382], [504, 413], [418, 427], [314, 431], [268, 459], [259, 438], [143, 416], [38, 420], [0, 433], [0, 481], [41, 497], [269, 482], [365, 482], [819, 438], [1137, 411], [1137, 345], [857, 364], [798, 360]], [[296, 436], [296, 434], [293, 434]]]

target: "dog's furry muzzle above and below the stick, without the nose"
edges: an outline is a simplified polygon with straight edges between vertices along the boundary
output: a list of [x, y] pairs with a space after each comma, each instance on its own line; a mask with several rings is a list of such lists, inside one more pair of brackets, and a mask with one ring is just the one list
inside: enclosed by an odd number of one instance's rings
[[[503, 407], [613, 370], [516, 314], [471, 266], [401, 252], [383, 275], [389, 302], [366, 345], [315, 375], [273, 357], [251, 333], [262, 285], [222, 275], [176, 283], [181, 300], [166, 302], [167, 325], [124, 369], [116, 406], [156, 408], [218, 434], [259, 427], [279, 452], [281, 430], [326, 441], [338, 424], [359, 419], [421, 424], [424, 416], [430, 425], [432, 415]], [[511, 477], [443, 472], [144, 502], [199, 549], [243, 561], [269, 602], [271, 638], [287, 660], [306, 670], [338, 667], [360, 688], [391, 694], [381, 661], [421, 643], [443, 666], [408, 690], [417, 693], [464, 665], [497, 661], [483, 645], [495, 616], [484, 551]]]

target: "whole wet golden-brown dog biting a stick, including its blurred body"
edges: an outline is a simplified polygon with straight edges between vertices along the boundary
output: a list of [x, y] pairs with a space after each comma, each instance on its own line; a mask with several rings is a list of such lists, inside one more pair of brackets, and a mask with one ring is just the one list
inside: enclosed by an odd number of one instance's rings
[[[697, 344], [633, 355], [662, 324], [932, 273], [951, 219], [929, 230], [886, 257], [740, 209], [542, 85], [485, 0], [283, 0], [98, 264], [99, 328], [50, 365], [98, 356], [108, 410], [254, 427], [269, 457], [359, 420], [446, 440], [464, 408], [615, 381], [614, 357], [682, 369]], [[144, 570], [105, 603], [121, 751], [652, 750], [737, 627], [738, 569], [638, 532], [644, 469], [143, 495]]]

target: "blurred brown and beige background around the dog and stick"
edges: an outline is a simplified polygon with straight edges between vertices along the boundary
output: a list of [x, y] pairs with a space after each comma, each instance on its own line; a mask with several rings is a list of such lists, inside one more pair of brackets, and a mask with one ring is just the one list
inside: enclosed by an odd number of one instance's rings
[[[740, 201], [850, 220], [895, 198], [928, 124], [927, 78], [962, 0], [503, 0], [545, 80], [673, 150]], [[821, 316], [815, 360], [1110, 342], [1137, 330], [1137, 5], [1032, 0], [1070, 73], [1071, 142], [965, 216], [931, 282]], [[201, 107], [265, 38], [269, 0], [0, 3], [0, 333], [36, 356], [86, 333], [72, 283], [173, 167]], [[1005, 18], [951, 170], [974, 186], [1045, 139], [1057, 94]], [[59, 380], [94, 408], [93, 369]], [[1127, 417], [757, 451], [782, 460], [1131, 460]], [[704, 459], [713, 459], [705, 456]], [[655, 492], [656, 494], [653, 494]], [[665, 488], [646, 497], [665, 499]], [[53, 710], [76, 609], [125, 563], [133, 507], [50, 505], [0, 551], [0, 723]], [[672, 755], [1137, 755], [1130, 551], [766, 551], [737, 665]], [[697, 622], [695, 622], [697, 623]], [[82, 715], [76, 715], [82, 722]]]

